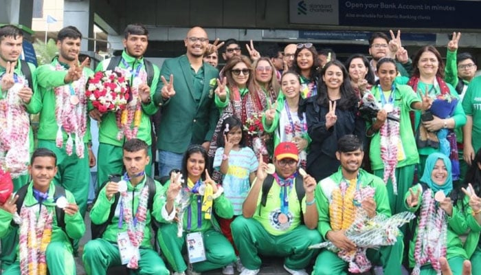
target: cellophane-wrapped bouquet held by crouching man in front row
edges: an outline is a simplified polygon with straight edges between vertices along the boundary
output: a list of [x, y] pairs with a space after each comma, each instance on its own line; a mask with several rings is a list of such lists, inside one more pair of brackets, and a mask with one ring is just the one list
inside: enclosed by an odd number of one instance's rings
[[349, 263], [349, 272], [366, 272], [371, 267], [371, 263], [366, 256], [366, 250], [396, 243], [396, 238], [400, 234], [399, 227], [415, 217], [414, 213], [406, 211], [392, 217], [377, 214], [370, 219], [366, 211], [359, 209], [355, 221], [345, 232], [346, 237], [355, 243], [356, 250], [339, 250], [331, 241], [311, 245], [309, 248], [327, 248]]

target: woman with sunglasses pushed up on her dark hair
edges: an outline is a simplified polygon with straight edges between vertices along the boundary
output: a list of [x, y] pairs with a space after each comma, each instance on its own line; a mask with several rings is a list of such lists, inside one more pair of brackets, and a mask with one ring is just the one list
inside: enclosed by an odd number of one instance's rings
[[301, 77], [302, 98], [310, 98], [317, 95], [317, 50], [312, 43], [301, 43], [297, 47], [292, 68]]

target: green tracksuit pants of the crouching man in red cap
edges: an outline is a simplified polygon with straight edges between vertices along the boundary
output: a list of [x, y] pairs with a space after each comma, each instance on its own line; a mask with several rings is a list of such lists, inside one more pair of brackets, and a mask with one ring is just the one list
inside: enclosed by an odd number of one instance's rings
[[307, 248], [322, 240], [317, 230], [309, 230], [306, 225], [299, 225], [290, 232], [273, 236], [258, 221], [243, 216], [236, 217], [230, 228], [240, 261], [248, 270], [260, 269], [260, 254], [285, 257], [286, 267], [302, 270], [319, 252]]

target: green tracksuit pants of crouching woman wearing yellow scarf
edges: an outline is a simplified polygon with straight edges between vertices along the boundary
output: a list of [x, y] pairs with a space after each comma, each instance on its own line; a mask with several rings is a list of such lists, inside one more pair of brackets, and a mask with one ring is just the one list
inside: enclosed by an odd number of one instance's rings
[[[177, 237], [177, 223], [162, 225], [159, 229], [158, 239], [162, 254], [166, 257], [172, 270], [183, 272], [187, 270], [182, 254], [186, 254], [186, 232], [181, 238]], [[205, 261], [193, 263], [194, 272], [216, 270], [236, 261], [234, 248], [221, 232], [214, 229], [203, 232], [205, 248]]]

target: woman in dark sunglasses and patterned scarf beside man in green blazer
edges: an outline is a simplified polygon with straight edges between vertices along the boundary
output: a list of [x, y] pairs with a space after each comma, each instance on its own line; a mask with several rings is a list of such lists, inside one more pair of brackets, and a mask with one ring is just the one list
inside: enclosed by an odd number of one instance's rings
[[[210, 142], [209, 157], [214, 158], [217, 149], [217, 135], [222, 135], [221, 126], [225, 118], [235, 115], [243, 125], [255, 115], [262, 117], [267, 100], [264, 92], [254, 81], [251, 61], [247, 56], [232, 56], [223, 69], [224, 78], [217, 80], [214, 102], [221, 111], [221, 118], [217, 122], [212, 141]], [[246, 144], [259, 153], [253, 146], [257, 134], [247, 135]], [[261, 152], [265, 159], [269, 159], [267, 150]], [[220, 181], [220, 173], [213, 172], [212, 178]]]

